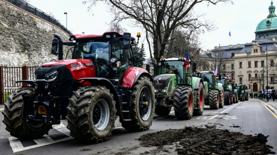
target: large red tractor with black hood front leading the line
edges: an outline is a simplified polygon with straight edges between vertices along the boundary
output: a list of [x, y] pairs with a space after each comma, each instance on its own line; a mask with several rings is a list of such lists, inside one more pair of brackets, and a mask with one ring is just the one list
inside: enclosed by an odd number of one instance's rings
[[[31, 86], [14, 91], [4, 104], [3, 123], [11, 136], [41, 138], [53, 124], [67, 120], [76, 140], [103, 142], [117, 117], [128, 131], [149, 129], [155, 108], [153, 79], [133, 67], [136, 42], [131, 33], [70, 35], [75, 42], [54, 36], [51, 53], [59, 60], [37, 67], [34, 80], [17, 81]], [[73, 46], [72, 59], [62, 60], [63, 45]]]

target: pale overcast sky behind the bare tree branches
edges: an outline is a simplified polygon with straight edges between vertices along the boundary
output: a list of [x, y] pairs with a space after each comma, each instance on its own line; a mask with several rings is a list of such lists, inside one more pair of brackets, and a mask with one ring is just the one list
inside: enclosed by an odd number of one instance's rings
[[[83, 0], [30, 0], [29, 3], [39, 10], [51, 12], [61, 24], [66, 26], [73, 34], [103, 34], [109, 28], [111, 15], [107, 12], [107, 7], [99, 3], [88, 12], [87, 5]], [[269, 15], [268, 7], [271, 0], [233, 0], [234, 5], [218, 3], [218, 5], [209, 5], [199, 3], [194, 6], [194, 11], [198, 14], [206, 14], [205, 18], [215, 21], [217, 30], [206, 32], [201, 35], [201, 49], [213, 49], [214, 46], [226, 46], [229, 44], [245, 44], [255, 40], [255, 30], [257, 24]], [[273, 0], [273, 5], [277, 6], [277, 0]], [[92, 13], [94, 15], [92, 15]], [[277, 13], [277, 12], [276, 12]], [[128, 27], [128, 22], [123, 23], [122, 27], [136, 38], [136, 33], [141, 32], [140, 43], [145, 44], [147, 57], [150, 56], [148, 44], [143, 40], [142, 30]], [[229, 36], [231, 32], [231, 37]]]

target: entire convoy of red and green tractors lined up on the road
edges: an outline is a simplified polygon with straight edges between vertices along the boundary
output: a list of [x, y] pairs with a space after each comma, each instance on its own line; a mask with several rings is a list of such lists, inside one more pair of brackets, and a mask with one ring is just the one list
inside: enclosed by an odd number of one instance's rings
[[[248, 100], [245, 85], [197, 71], [188, 52], [186, 58], [160, 58], [153, 77], [134, 67], [132, 47], [138, 42], [131, 33], [69, 35], [70, 42], [54, 37], [51, 54], [58, 60], [37, 67], [33, 80], [17, 81], [28, 86], [4, 103], [6, 130], [21, 140], [42, 138], [66, 120], [76, 140], [104, 142], [116, 118], [128, 131], [145, 131], [154, 113], [166, 116], [172, 107], [177, 119], [187, 120], [202, 115], [204, 104], [218, 109]], [[71, 59], [62, 60], [64, 45], [72, 47]]]

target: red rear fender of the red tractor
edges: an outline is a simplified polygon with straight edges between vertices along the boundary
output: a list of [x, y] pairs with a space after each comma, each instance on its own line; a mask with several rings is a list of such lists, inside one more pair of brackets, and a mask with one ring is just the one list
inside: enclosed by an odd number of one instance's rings
[[122, 80], [122, 87], [131, 88], [140, 76], [147, 76], [153, 82], [152, 76], [143, 68], [130, 67]]

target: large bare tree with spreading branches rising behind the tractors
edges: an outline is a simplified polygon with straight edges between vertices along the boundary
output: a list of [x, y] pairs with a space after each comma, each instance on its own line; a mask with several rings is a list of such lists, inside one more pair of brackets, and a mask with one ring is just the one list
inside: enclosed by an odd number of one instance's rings
[[83, 3], [88, 3], [90, 9], [101, 1], [110, 6], [110, 12], [114, 14], [114, 21], [134, 19], [131, 23], [132, 26], [140, 26], [145, 29], [150, 57], [153, 58], [151, 50], [153, 48], [156, 60], [164, 55], [174, 29], [194, 28], [201, 29], [203, 32], [214, 29], [213, 22], [198, 20], [204, 15], [194, 13], [193, 7], [197, 3], [204, 1], [214, 5], [219, 2], [233, 3], [231, 0], [87, 0]]

